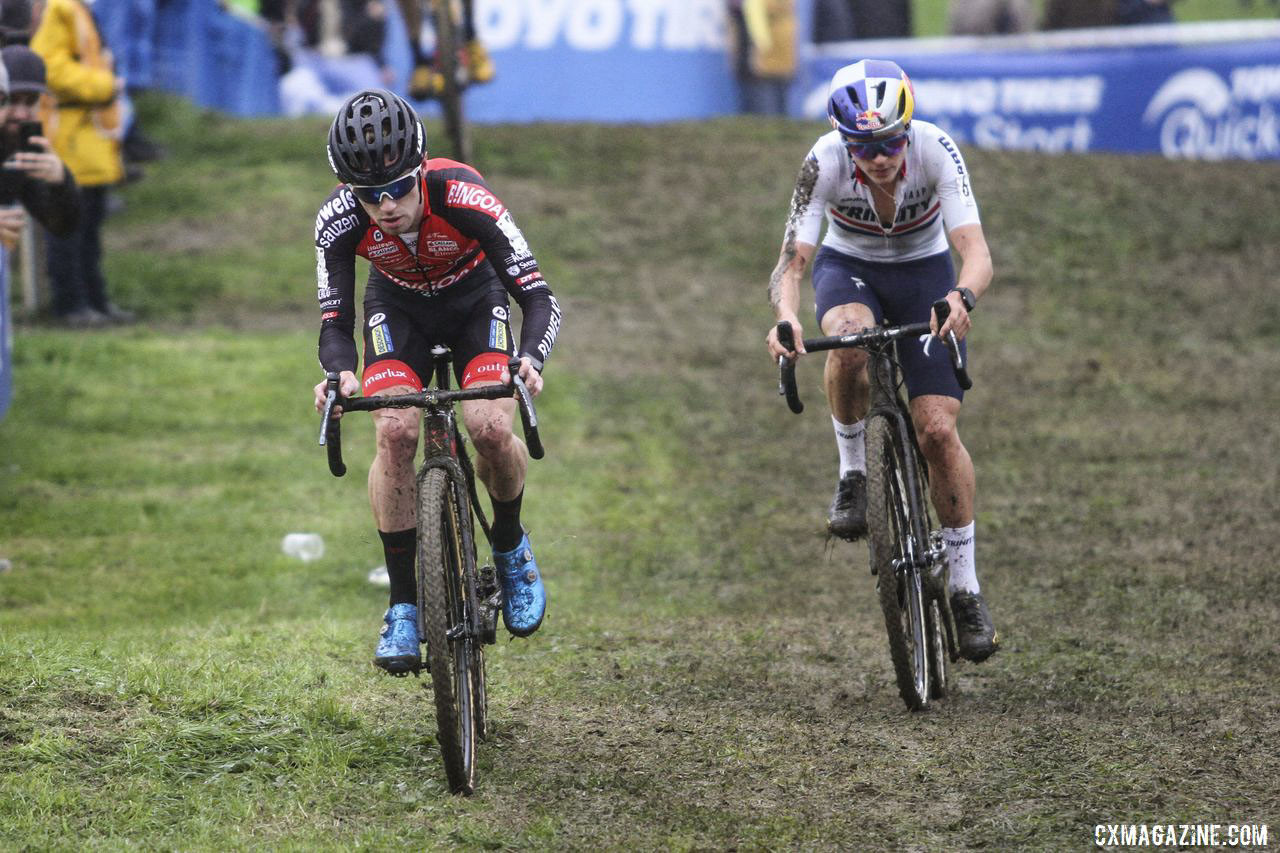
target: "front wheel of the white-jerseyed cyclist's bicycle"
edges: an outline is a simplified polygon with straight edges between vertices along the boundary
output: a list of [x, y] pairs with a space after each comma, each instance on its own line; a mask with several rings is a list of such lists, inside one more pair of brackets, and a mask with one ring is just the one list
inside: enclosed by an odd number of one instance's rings
[[[913, 564], [923, 553], [913, 525], [906, 465], [897, 424], [872, 416], [867, 424], [867, 529], [888, 652], [897, 692], [911, 711], [929, 703], [929, 642], [924, 583]], [[899, 564], [895, 566], [895, 564]]]

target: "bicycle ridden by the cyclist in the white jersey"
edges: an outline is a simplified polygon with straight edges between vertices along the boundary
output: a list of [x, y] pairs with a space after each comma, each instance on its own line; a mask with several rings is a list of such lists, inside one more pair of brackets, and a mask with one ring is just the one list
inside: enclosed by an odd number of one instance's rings
[[[933, 304], [938, 328], [950, 310], [946, 300]], [[946, 549], [928, 500], [928, 465], [915, 441], [897, 364], [899, 341], [928, 334], [928, 323], [911, 323], [804, 341], [809, 352], [860, 347], [869, 356], [867, 535], [897, 690], [913, 711], [923, 711], [931, 701], [946, 695], [950, 665], [960, 657], [947, 601]], [[795, 351], [790, 323], [778, 324], [778, 342]], [[954, 332], [947, 333], [945, 343], [956, 380], [968, 391], [973, 383]], [[804, 403], [796, 389], [795, 366], [794, 360], [778, 356], [778, 393], [791, 411], [800, 414]]]

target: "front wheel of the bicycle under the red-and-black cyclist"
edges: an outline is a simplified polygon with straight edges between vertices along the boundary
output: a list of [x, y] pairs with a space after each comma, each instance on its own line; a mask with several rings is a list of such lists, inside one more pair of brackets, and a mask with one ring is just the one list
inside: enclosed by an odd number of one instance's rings
[[419, 613], [444, 771], [461, 794], [475, 790], [476, 739], [484, 725], [484, 653], [471, 631], [475, 553], [463, 529], [470, 521], [448, 471], [429, 469], [417, 489]]

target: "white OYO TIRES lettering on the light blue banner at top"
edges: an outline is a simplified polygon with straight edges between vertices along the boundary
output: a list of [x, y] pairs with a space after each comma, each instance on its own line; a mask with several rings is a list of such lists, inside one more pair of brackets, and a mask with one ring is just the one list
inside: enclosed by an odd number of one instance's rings
[[476, 0], [490, 50], [716, 50], [727, 44], [722, 0]]

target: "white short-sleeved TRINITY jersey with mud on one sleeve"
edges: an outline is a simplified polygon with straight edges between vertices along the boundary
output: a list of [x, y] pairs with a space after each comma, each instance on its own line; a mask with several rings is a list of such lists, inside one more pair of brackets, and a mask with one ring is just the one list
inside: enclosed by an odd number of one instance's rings
[[826, 216], [823, 246], [863, 260], [909, 261], [947, 250], [943, 223], [951, 231], [978, 222], [978, 202], [956, 143], [937, 124], [919, 119], [908, 133], [911, 143], [890, 228], [881, 225], [868, 178], [854, 165], [840, 133], [820, 137], [808, 158], [818, 168], [813, 193], [792, 200], [795, 222], [787, 227], [795, 228], [796, 241], [817, 246]]

